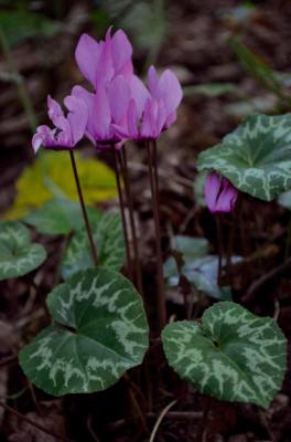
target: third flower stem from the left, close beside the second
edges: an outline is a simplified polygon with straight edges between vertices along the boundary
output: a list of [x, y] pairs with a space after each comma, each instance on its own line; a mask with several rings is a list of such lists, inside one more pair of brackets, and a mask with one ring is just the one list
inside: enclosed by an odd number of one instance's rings
[[128, 161], [127, 161], [127, 151], [125, 146], [122, 146], [121, 155], [120, 155], [120, 164], [123, 171], [123, 180], [126, 187], [126, 196], [127, 202], [129, 208], [129, 220], [130, 220], [130, 228], [132, 233], [132, 241], [133, 241], [133, 251], [134, 251], [134, 266], [136, 266], [136, 277], [137, 277], [137, 287], [140, 294], [142, 294], [142, 276], [141, 276], [141, 266], [140, 266], [140, 253], [139, 253], [139, 243], [137, 238], [137, 229], [133, 215], [133, 200], [132, 193], [130, 188], [130, 180], [128, 175]]

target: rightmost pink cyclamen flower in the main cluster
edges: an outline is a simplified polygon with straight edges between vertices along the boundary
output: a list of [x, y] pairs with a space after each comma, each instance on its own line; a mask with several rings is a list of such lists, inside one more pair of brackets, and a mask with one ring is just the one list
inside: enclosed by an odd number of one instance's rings
[[149, 91], [140, 85], [131, 90], [126, 124], [114, 126], [116, 133], [125, 139], [157, 139], [176, 119], [176, 108], [183, 93], [175, 74], [166, 70], [158, 78], [155, 69], [148, 72]]

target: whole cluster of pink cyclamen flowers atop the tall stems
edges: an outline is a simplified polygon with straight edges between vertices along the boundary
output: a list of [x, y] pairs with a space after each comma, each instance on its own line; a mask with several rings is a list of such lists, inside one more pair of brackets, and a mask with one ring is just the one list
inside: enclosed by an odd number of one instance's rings
[[54, 128], [42, 125], [33, 136], [36, 152], [72, 149], [86, 135], [98, 149], [119, 148], [127, 139], [157, 139], [176, 119], [182, 88], [175, 74], [166, 70], [158, 78], [155, 69], [148, 72], [148, 87], [134, 75], [132, 46], [123, 31], [97, 42], [83, 34], [75, 51], [77, 65], [93, 86], [73, 87], [62, 107], [47, 97], [48, 117]]

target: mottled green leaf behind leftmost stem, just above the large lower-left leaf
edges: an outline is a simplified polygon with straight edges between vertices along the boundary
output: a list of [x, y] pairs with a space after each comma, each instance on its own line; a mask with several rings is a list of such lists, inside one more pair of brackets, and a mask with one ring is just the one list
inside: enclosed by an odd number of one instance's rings
[[[125, 261], [125, 241], [120, 214], [104, 213], [90, 225], [100, 265], [116, 271], [120, 270]], [[74, 234], [68, 244], [62, 264], [62, 275], [66, 280], [79, 270], [93, 266], [87, 233], [83, 229]]]

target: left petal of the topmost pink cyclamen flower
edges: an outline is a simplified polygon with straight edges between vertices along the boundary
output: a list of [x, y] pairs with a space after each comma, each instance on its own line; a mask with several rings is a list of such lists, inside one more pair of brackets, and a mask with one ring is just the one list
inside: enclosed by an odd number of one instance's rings
[[94, 87], [96, 86], [96, 70], [99, 55], [100, 49], [97, 41], [88, 34], [80, 35], [75, 51], [75, 59], [80, 72]]

